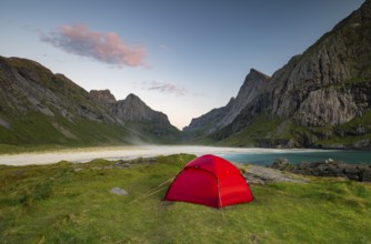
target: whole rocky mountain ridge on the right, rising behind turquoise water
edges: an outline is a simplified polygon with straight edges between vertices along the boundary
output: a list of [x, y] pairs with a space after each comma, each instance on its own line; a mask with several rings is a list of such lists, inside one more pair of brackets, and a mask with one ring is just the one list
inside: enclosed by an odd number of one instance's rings
[[371, 0], [271, 78], [255, 73], [184, 130], [229, 145], [371, 149]]

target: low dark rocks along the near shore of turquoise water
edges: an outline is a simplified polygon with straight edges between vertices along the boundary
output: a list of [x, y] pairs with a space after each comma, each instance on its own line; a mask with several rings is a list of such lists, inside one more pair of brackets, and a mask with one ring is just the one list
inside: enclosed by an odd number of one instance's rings
[[301, 162], [299, 164], [290, 164], [288, 160], [278, 159], [270, 167], [303, 175], [345, 177], [360, 182], [371, 181], [371, 165], [345, 164], [341, 161], [333, 161], [331, 159], [311, 163]]

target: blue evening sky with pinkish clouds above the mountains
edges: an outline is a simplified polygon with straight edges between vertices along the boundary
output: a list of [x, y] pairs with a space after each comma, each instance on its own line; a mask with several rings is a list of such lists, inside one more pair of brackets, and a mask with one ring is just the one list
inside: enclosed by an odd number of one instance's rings
[[138, 95], [182, 129], [268, 75], [363, 0], [0, 0], [0, 55], [87, 91]]

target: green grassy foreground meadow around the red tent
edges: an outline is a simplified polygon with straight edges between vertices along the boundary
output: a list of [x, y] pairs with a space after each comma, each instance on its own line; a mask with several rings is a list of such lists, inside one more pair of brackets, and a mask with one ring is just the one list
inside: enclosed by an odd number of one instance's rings
[[[164, 202], [192, 155], [0, 166], [0, 243], [369, 243], [371, 185], [311, 179], [252, 185], [223, 211]], [[110, 193], [121, 187], [129, 195]], [[143, 197], [146, 193], [160, 191]]]

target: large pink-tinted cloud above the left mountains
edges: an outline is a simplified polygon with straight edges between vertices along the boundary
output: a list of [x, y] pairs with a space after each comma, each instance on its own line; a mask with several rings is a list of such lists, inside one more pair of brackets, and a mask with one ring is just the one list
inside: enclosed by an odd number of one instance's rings
[[91, 58], [118, 68], [146, 67], [144, 47], [130, 47], [114, 32], [91, 31], [84, 24], [61, 26], [56, 32], [41, 35], [41, 40], [69, 53]]

